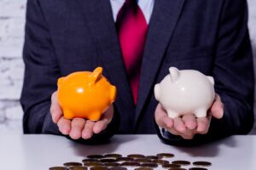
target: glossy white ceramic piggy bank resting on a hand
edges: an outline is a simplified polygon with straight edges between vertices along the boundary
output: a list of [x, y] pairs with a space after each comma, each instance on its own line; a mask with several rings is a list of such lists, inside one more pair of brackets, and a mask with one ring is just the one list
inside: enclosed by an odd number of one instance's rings
[[200, 71], [169, 69], [167, 75], [154, 86], [154, 96], [171, 118], [193, 113], [207, 116], [207, 110], [215, 97], [214, 80]]

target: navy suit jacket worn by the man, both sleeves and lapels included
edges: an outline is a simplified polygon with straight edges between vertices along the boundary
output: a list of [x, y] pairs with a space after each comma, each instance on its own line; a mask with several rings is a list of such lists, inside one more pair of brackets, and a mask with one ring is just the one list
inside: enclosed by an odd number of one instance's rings
[[224, 117], [212, 118], [209, 133], [189, 143], [248, 133], [253, 126], [253, 56], [245, 0], [155, 0], [137, 106], [108, 0], [28, 0], [24, 62], [20, 101], [25, 133], [60, 134], [49, 114], [57, 79], [97, 66], [118, 89], [113, 122], [97, 140], [113, 133], [158, 133], [166, 142], [182, 141], [171, 133], [164, 138], [154, 122], [154, 84], [170, 66], [214, 77], [224, 103]]

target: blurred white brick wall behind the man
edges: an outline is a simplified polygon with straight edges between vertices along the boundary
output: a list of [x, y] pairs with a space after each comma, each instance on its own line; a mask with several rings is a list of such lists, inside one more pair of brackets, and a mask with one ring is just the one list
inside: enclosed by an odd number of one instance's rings
[[[248, 0], [248, 7], [248, 26], [256, 56], [256, 1]], [[26, 0], [0, 0], [0, 133], [22, 133], [19, 99], [24, 73], [21, 56], [25, 13]], [[256, 123], [251, 133], [256, 134]]]

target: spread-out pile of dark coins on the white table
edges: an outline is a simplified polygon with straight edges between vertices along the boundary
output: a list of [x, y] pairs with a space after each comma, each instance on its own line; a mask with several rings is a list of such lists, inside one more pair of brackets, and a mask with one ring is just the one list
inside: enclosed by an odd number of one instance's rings
[[[122, 156], [120, 154], [90, 155], [82, 162], [66, 162], [63, 167], [49, 167], [49, 170], [207, 170], [212, 166], [209, 161], [167, 161], [172, 158], [172, 153], [160, 153], [156, 156], [143, 156], [131, 154]], [[192, 165], [194, 167], [186, 168]]]

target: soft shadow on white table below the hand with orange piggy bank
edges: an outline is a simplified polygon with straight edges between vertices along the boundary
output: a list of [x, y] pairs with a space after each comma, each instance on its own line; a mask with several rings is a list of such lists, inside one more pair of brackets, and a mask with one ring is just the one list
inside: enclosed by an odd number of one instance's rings
[[104, 155], [114, 153], [121, 144], [136, 140], [137, 136], [123, 135], [122, 138], [113, 137], [107, 144], [78, 144], [71, 142], [76, 156], [89, 156], [89, 155]]

